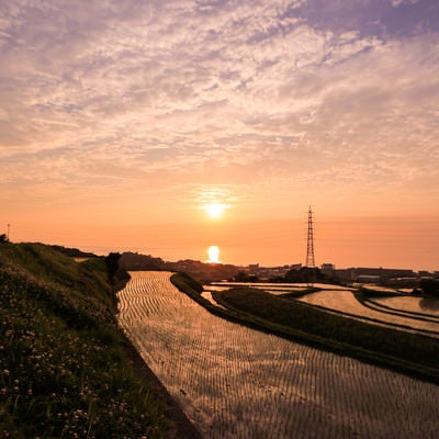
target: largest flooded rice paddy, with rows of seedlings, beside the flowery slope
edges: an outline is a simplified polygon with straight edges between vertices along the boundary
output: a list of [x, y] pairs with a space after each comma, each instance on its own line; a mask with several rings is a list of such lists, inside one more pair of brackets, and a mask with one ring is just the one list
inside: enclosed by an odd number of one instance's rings
[[120, 322], [204, 438], [435, 438], [439, 387], [225, 322], [132, 272]]

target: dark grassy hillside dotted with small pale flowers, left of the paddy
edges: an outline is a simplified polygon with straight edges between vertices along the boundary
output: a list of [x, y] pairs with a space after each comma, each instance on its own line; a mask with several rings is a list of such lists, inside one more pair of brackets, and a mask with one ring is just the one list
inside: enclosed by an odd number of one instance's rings
[[169, 437], [114, 311], [103, 259], [0, 244], [1, 437]]

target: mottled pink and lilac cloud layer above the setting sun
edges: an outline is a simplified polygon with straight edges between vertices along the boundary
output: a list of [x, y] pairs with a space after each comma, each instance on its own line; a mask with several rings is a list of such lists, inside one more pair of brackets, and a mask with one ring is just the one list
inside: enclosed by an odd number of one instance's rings
[[432, 4], [10, 2], [2, 182], [91, 198], [179, 179], [286, 194], [439, 181]]

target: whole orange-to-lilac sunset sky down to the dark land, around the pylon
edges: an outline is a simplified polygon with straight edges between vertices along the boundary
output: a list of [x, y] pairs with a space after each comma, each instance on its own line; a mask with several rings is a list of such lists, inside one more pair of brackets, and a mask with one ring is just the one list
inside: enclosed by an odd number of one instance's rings
[[438, 71], [437, 0], [0, 0], [0, 234], [439, 270]]

